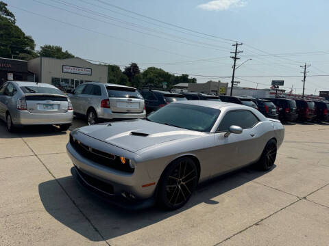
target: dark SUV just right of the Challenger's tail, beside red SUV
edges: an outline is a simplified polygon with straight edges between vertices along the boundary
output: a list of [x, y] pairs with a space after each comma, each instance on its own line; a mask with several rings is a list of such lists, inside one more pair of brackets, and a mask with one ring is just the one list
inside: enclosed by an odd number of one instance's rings
[[278, 107], [281, 122], [294, 122], [298, 118], [296, 102], [287, 98], [263, 98], [271, 100]]

